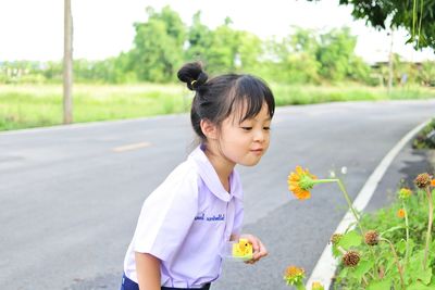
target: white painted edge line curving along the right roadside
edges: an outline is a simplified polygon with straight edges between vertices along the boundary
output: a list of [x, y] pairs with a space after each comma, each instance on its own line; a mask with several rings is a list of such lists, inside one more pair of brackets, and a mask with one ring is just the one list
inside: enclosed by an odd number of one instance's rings
[[[384, 176], [388, 166], [391, 164], [393, 160], [400, 152], [400, 150], [413, 138], [415, 134], [418, 134], [424, 126], [426, 126], [431, 122], [431, 118], [415, 128], [410, 130], [401, 140], [384, 156], [377, 167], [374, 169], [372, 175], [365, 181], [361, 191], [358, 193], [353, 206], [357, 211], [363, 211], [368, 205], [370, 199], [375, 191], [377, 184], [381, 181], [381, 178]], [[343, 217], [341, 222], [338, 224], [337, 229], [334, 232], [344, 232], [347, 228], [349, 228], [350, 224], [355, 223], [355, 217], [351, 212], [347, 212]], [[325, 249], [318, 263], [314, 266], [314, 269], [308, 279], [306, 286], [307, 289], [311, 289], [311, 285], [313, 281], [321, 282], [325, 289], [330, 289], [331, 279], [335, 275], [335, 270], [338, 265], [338, 261], [333, 257], [331, 244], [326, 244]]]

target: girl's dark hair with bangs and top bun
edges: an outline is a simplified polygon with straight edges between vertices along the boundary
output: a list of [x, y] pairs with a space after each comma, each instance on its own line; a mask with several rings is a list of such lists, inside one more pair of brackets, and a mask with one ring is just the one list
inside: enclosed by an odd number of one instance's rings
[[[195, 90], [191, 103], [190, 121], [195, 133], [204, 141], [200, 126], [201, 119], [208, 119], [220, 126], [237, 108], [245, 112], [239, 122], [256, 116], [265, 102], [269, 115], [273, 117], [275, 100], [264, 80], [246, 74], [224, 74], [208, 80], [208, 75], [198, 62], [186, 63], [178, 71], [178, 79]], [[246, 109], [244, 106], [247, 106]]]

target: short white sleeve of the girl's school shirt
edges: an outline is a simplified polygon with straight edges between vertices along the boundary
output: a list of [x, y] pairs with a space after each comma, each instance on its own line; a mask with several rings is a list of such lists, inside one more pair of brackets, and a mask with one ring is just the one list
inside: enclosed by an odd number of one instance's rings
[[181, 247], [198, 212], [198, 175], [179, 165], [145, 201], [133, 250], [170, 260]]

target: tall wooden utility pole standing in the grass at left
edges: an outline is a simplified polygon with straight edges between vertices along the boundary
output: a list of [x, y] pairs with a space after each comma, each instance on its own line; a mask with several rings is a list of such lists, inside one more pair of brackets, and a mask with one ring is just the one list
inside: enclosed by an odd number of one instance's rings
[[73, 15], [71, 0], [64, 0], [63, 124], [73, 123]]

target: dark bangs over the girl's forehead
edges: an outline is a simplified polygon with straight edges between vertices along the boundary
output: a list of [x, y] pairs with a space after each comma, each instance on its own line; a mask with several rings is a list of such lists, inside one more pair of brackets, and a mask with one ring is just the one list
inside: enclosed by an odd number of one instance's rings
[[275, 101], [270, 88], [261, 79], [244, 75], [236, 81], [231, 111], [240, 112], [239, 123], [257, 116], [266, 103], [269, 116], [275, 113]]

